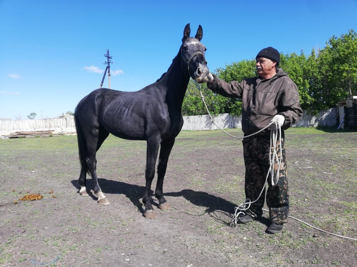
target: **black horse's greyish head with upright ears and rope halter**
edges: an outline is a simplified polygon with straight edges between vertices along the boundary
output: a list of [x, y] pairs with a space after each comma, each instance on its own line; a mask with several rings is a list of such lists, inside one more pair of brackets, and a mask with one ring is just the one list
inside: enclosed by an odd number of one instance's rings
[[[180, 48], [181, 65], [187, 66], [190, 77], [197, 83], [207, 83], [213, 80], [213, 76], [208, 70], [205, 58], [206, 47], [200, 42], [203, 31], [201, 25], [198, 26], [195, 37], [190, 37], [191, 28], [188, 23], [183, 30], [182, 45]], [[182, 61], [185, 64], [182, 64]], [[186, 68], [186, 67], [185, 67]]]

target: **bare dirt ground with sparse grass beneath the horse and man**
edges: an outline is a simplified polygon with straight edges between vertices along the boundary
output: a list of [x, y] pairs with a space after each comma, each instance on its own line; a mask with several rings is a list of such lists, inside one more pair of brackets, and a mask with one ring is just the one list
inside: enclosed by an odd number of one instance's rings
[[[355, 132], [286, 131], [291, 216], [357, 239], [356, 143]], [[155, 219], [142, 215], [145, 155], [145, 142], [105, 141], [102, 206], [77, 193], [75, 136], [0, 140], [0, 266], [357, 266], [356, 241], [292, 218], [275, 235], [265, 233], [267, 212], [230, 223], [245, 200], [240, 140], [181, 132], [164, 181], [172, 208], [153, 196]], [[43, 198], [19, 200], [29, 193]]]

